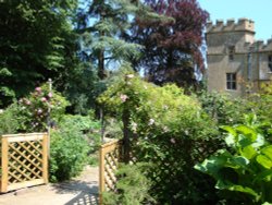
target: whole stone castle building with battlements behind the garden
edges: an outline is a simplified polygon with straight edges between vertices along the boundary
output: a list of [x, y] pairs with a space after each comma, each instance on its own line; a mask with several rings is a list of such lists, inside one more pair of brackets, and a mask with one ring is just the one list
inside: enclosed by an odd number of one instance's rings
[[207, 24], [207, 81], [209, 91], [245, 96], [272, 80], [272, 39], [255, 39], [255, 23], [217, 21]]

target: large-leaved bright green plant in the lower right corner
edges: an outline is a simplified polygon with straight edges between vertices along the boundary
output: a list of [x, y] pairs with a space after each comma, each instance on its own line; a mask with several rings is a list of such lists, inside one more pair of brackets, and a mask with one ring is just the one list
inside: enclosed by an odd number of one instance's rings
[[249, 116], [246, 124], [222, 129], [227, 131], [230, 150], [221, 149], [195, 168], [213, 177], [215, 188], [233, 204], [272, 203], [272, 145], [264, 135], [272, 135], [271, 125], [270, 132], [263, 131], [256, 117]]

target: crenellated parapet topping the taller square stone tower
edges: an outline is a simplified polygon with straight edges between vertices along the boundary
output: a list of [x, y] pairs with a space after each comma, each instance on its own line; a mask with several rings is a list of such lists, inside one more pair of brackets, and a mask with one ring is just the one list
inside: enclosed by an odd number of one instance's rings
[[248, 19], [239, 19], [235, 22], [234, 19], [217, 20], [215, 24], [212, 22], [207, 23], [207, 33], [222, 33], [222, 32], [249, 32], [255, 33], [255, 22]]

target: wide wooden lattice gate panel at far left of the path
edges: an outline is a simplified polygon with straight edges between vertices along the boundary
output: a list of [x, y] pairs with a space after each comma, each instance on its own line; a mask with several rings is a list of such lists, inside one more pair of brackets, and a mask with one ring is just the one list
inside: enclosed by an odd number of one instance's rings
[[1, 136], [0, 191], [48, 183], [47, 133]]

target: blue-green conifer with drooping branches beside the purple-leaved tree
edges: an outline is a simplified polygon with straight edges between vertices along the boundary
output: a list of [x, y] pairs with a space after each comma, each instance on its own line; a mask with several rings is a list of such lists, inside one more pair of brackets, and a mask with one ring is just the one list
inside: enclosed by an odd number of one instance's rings
[[[107, 76], [107, 68], [128, 61], [139, 56], [139, 46], [124, 40], [129, 27], [129, 15], [138, 8], [137, 3], [124, 0], [88, 1], [87, 10], [78, 12], [78, 31], [85, 37], [83, 53], [97, 65], [99, 79]], [[89, 35], [89, 38], [86, 36]]]

